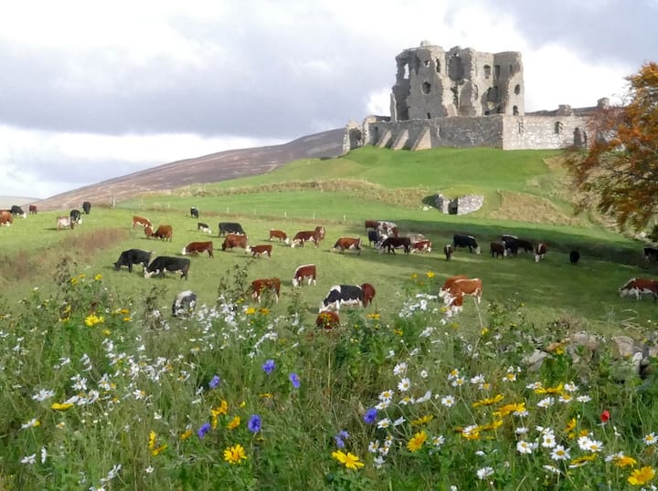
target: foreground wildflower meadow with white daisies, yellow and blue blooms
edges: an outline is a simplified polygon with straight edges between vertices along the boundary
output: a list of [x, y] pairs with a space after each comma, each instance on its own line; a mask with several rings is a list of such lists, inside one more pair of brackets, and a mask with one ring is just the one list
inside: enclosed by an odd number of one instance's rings
[[0, 489], [656, 489], [653, 375], [523, 298], [465, 325], [419, 271], [394, 315], [317, 329], [230, 288], [176, 319], [157, 286], [56, 281], [0, 305]]

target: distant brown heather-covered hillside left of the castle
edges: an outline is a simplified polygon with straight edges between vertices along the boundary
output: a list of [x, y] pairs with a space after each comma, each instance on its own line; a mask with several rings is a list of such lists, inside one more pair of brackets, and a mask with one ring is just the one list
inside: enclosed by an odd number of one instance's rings
[[343, 152], [344, 132], [343, 129], [322, 131], [281, 145], [220, 151], [166, 163], [57, 194], [38, 201], [37, 206], [42, 210], [68, 209], [80, 207], [85, 200], [92, 204], [110, 204], [112, 199], [122, 201], [139, 193], [271, 172], [281, 164], [299, 159], [335, 157]]

